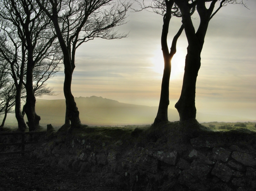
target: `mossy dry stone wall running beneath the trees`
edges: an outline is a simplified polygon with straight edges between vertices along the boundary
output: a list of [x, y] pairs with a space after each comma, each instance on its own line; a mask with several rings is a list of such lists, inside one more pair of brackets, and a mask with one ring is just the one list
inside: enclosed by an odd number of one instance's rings
[[255, 137], [248, 130], [212, 132], [176, 143], [58, 136], [31, 149], [42, 162], [89, 173], [118, 190], [255, 191]]

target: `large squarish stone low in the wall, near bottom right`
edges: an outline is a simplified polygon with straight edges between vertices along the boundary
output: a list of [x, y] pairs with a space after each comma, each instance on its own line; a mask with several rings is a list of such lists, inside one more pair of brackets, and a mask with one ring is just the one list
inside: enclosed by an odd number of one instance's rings
[[214, 165], [214, 168], [212, 169], [211, 174], [222, 179], [224, 182], [228, 182], [232, 176], [232, 170], [225, 164], [217, 161], [217, 163]]

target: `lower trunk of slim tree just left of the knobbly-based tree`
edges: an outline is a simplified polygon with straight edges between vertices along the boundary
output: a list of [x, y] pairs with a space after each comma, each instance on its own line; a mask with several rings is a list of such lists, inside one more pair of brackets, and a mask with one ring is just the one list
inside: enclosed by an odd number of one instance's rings
[[21, 89], [20, 88], [16, 88], [16, 95], [15, 95], [15, 117], [18, 121], [18, 128], [19, 130], [23, 130], [23, 129], [26, 129], [27, 126], [26, 126], [26, 123], [25, 123], [25, 120], [24, 120], [24, 117], [21, 113]]

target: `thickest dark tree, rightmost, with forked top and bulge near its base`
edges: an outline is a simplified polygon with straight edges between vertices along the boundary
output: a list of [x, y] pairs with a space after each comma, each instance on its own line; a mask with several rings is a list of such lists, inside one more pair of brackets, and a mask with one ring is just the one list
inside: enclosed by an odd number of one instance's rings
[[[174, 0], [179, 7], [182, 23], [189, 43], [187, 47], [187, 55], [185, 60], [185, 71], [181, 95], [175, 108], [180, 115], [180, 121], [196, 119], [195, 93], [196, 93], [196, 78], [201, 66], [201, 51], [204, 45], [204, 39], [207, 32], [208, 24], [211, 18], [220, 10], [222, 6], [227, 4], [242, 4], [243, 1], [237, 0], [222, 0], [220, 6], [214, 11], [214, 6], [219, 0]], [[209, 8], [206, 8], [206, 3], [210, 3]], [[200, 24], [195, 31], [193, 26], [190, 10], [196, 6], [200, 17]], [[214, 12], [213, 12], [214, 11]]]

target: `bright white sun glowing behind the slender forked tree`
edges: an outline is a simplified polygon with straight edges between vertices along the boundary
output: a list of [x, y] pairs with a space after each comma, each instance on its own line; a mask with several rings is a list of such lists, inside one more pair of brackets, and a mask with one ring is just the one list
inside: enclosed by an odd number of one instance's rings
[[[151, 58], [153, 64], [152, 69], [154, 72], [162, 75], [164, 72], [164, 58], [161, 47], [159, 47], [153, 55], [154, 56]], [[186, 53], [180, 47], [177, 47], [177, 52], [171, 60], [170, 79], [182, 78], [184, 74], [185, 57]]]

